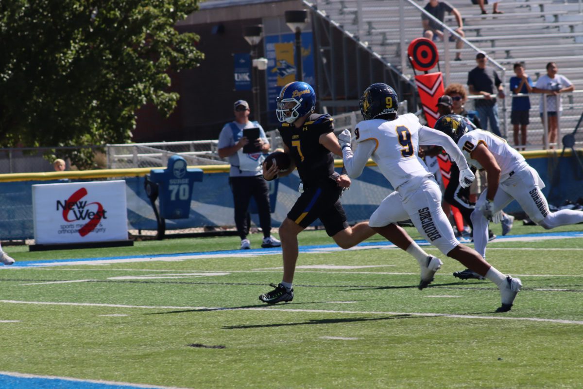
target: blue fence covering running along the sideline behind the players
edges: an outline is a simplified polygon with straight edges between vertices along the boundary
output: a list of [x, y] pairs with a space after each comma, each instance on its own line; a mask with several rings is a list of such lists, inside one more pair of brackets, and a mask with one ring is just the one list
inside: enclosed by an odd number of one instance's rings
[[[551, 204], [560, 206], [565, 199], [572, 202], [581, 196], [583, 180], [573, 157], [558, 160], [537, 157], [528, 163], [540, 174], [547, 184], [543, 193]], [[336, 169], [339, 171], [339, 169]], [[128, 206], [128, 227], [138, 230], [156, 230], [157, 223], [150, 200], [144, 188], [144, 177], [125, 178], [126, 201]], [[167, 219], [166, 229], [186, 229], [202, 226], [233, 226], [233, 194], [228, 185], [229, 173], [203, 173], [202, 183], [195, 183], [188, 219]], [[82, 181], [82, 180], [79, 180]], [[555, 183], [553, 185], [552, 183]], [[0, 183], [0, 239], [33, 239], [32, 185], [56, 184], [78, 181], [15, 181]], [[287, 217], [287, 212], [299, 197], [297, 191], [300, 177], [297, 171], [289, 176], [270, 181], [272, 201], [272, 226], [278, 227]], [[203, 186], [204, 190], [196, 190]], [[277, 185], [277, 187], [276, 187]], [[368, 220], [392, 188], [382, 176], [378, 167], [367, 167], [363, 174], [352, 181], [350, 190], [342, 197], [342, 205], [350, 224]], [[255, 210], [250, 208], [251, 212]], [[512, 201], [504, 211], [521, 212], [516, 201]], [[258, 215], [251, 213], [255, 225], [259, 225]], [[312, 225], [321, 225], [316, 220]], [[1, 386], [1, 385], [0, 385]]]

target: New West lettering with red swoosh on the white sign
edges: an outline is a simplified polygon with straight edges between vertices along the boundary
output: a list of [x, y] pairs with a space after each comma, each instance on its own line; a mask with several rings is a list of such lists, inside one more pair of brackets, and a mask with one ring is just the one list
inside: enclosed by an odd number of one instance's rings
[[[80, 236], [86, 236], [99, 225], [101, 219], [107, 219], [107, 211], [103, 209], [101, 203], [81, 201], [86, 195], [86, 188], [80, 188], [68, 199], [64, 201], [57, 200], [57, 211], [62, 210], [63, 220], [65, 222], [71, 223], [79, 220], [88, 220], [87, 224], [79, 229]], [[94, 206], [97, 206], [97, 211], [94, 211]]]

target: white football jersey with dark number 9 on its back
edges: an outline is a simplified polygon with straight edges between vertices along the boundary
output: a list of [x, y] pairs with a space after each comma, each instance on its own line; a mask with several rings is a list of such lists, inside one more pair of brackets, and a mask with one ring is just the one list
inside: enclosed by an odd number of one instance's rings
[[356, 150], [359, 143], [371, 140], [376, 142], [371, 157], [381, 173], [397, 190], [414, 177], [432, 176], [426, 164], [417, 156], [421, 128], [423, 126], [414, 114], [399, 115], [390, 121], [382, 119], [361, 121], [354, 129]]

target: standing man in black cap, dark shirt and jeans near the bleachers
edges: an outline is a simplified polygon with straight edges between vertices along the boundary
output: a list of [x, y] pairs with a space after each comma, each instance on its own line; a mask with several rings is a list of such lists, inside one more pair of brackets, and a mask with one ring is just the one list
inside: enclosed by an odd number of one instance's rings
[[504, 99], [504, 87], [498, 78], [498, 73], [487, 66], [488, 58], [486, 53], [478, 52], [476, 55], [477, 66], [468, 73], [468, 88], [470, 94], [483, 96], [483, 99], [476, 99], [474, 106], [480, 116], [482, 129], [487, 129], [490, 123], [491, 132], [494, 135], [500, 134], [500, 121], [498, 119], [498, 104], [496, 94], [500, 99]]

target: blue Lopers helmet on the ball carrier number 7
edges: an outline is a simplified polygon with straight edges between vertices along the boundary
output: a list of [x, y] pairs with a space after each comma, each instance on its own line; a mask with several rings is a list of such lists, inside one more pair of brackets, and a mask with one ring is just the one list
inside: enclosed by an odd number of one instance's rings
[[293, 123], [298, 117], [311, 113], [316, 108], [314, 88], [305, 82], [290, 82], [282, 88], [275, 113], [280, 122]]

